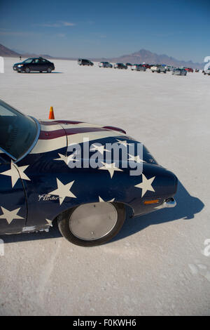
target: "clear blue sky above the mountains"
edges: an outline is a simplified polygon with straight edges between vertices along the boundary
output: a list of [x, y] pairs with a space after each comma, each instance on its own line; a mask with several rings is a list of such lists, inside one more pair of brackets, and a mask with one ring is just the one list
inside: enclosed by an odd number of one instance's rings
[[181, 60], [210, 55], [210, 0], [0, 0], [0, 44], [63, 57], [141, 48]]

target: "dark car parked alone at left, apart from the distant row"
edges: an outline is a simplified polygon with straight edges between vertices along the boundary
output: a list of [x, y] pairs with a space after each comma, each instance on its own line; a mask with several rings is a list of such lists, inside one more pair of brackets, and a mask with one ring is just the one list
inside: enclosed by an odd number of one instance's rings
[[55, 70], [55, 66], [54, 63], [45, 60], [45, 58], [27, 58], [27, 60], [24, 60], [23, 62], [15, 63], [13, 65], [13, 70], [27, 73], [31, 71], [46, 71], [50, 73], [52, 70]]

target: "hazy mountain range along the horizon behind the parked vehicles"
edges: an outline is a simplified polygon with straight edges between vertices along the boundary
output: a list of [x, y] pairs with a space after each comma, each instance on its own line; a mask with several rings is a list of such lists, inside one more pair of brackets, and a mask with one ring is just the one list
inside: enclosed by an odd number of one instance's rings
[[[12, 51], [11, 49], [3, 46], [0, 44], [0, 56], [8, 56], [8, 57], [19, 57], [22, 58], [29, 58], [29, 57], [37, 57], [42, 56], [43, 58], [50, 58], [50, 59], [59, 59], [59, 60], [77, 60], [77, 58], [62, 58], [62, 57], [53, 57], [46, 54], [35, 54], [35, 53], [17, 53], [16, 51]], [[141, 49], [136, 53], [122, 55], [118, 58], [90, 58], [92, 61], [101, 62], [101, 61], [109, 61], [109, 62], [130, 62], [130, 63], [142, 63], [146, 62], [148, 64], [157, 64], [157, 63], [164, 63], [166, 65], [173, 65], [174, 67], [193, 67], [202, 69], [204, 66], [202, 63], [195, 63], [191, 60], [183, 61], [183, 60], [176, 60], [176, 58], [169, 57], [168, 55], [162, 54], [158, 55], [156, 53], [152, 53], [151, 51], [146, 51], [145, 49]]]

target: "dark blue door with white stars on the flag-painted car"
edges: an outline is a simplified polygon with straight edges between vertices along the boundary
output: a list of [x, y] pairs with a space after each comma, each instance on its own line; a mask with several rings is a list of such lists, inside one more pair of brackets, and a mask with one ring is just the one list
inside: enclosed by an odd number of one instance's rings
[[0, 149], [0, 235], [25, 227], [27, 201], [20, 173], [22, 169]]

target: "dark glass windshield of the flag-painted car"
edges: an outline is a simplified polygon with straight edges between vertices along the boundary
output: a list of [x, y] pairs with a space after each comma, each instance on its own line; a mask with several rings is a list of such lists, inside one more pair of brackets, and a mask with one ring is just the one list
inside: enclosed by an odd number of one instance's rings
[[13, 159], [20, 159], [36, 138], [36, 121], [0, 100], [0, 147]]

